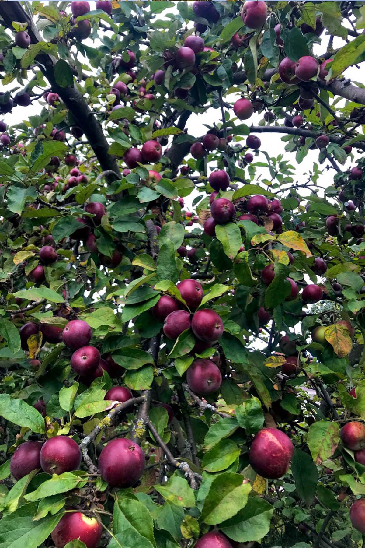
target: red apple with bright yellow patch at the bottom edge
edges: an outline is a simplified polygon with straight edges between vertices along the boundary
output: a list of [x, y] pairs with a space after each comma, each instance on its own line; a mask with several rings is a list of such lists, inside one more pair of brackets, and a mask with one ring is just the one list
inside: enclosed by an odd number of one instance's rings
[[[73, 2], [76, 3], [83, 2]], [[56, 548], [63, 548], [72, 540], [79, 540], [86, 548], [96, 548], [102, 530], [102, 524], [95, 517], [85, 516], [82, 512], [69, 512], [61, 517], [51, 537]]]

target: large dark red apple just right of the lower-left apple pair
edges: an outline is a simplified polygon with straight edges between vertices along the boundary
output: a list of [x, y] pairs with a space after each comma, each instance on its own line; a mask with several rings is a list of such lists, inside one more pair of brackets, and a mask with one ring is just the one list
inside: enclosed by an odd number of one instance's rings
[[109, 442], [100, 453], [100, 473], [111, 487], [132, 487], [142, 476], [144, 453], [137, 443], [128, 438]]

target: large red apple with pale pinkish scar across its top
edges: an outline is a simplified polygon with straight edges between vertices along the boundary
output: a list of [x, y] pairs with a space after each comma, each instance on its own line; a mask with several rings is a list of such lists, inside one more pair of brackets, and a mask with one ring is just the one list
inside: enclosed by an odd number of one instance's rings
[[253, 439], [250, 464], [260, 476], [279, 479], [288, 470], [294, 454], [291, 439], [276, 428], [264, 428]]

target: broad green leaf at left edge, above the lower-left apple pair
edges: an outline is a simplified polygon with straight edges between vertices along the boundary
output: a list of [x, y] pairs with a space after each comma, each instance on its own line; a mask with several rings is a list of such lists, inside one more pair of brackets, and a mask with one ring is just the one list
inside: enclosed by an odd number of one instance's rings
[[32, 432], [45, 432], [43, 416], [37, 409], [22, 399], [11, 399], [9, 394], [0, 394], [0, 415], [11, 423], [29, 428]]

